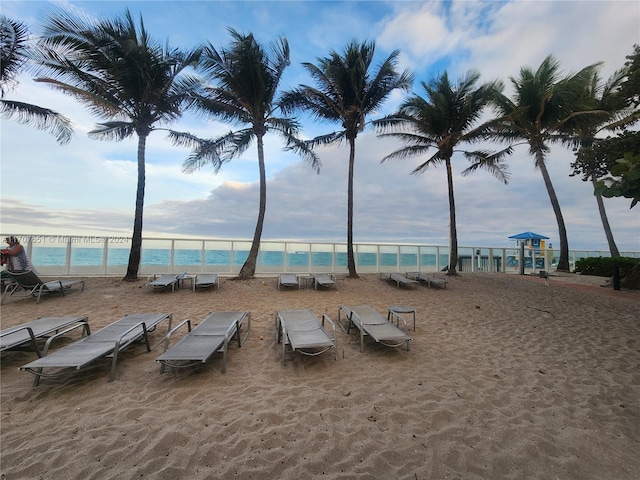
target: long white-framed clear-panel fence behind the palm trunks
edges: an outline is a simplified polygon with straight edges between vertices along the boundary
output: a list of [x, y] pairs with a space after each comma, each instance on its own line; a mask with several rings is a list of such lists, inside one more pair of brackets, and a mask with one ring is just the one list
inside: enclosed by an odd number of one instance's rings
[[[2, 235], [4, 238], [5, 235]], [[108, 236], [16, 235], [33, 264], [43, 276], [122, 276], [129, 262], [131, 239]], [[143, 238], [138, 273], [217, 273], [234, 276], [240, 272], [251, 242], [248, 240], [202, 238]], [[437, 272], [449, 264], [449, 248], [419, 244], [355, 243], [358, 273]], [[524, 260], [525, 273], [551, 271], [558, 251], [533, 252]], [[640, 258], [640, 252], [623, 256]], [[517, 248], [458, 247], [458, 271], [520, 271]], [[569, 252], [571, 269], [586, 257], [607, 257], [605, 251]], [[347, 273], [346, 243], [263, 241], [256, 275], [278, 273]]]

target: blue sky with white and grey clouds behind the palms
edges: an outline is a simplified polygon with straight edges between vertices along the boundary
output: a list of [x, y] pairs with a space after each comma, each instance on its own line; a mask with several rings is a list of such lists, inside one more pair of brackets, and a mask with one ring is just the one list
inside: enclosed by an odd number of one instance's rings
[[[481, 82], [502, 80], [522, 67], [536, 69], [552, 54], [563, 73], [602, 62], [606, 78], [624, 65], [640, 44], [637, 1], [11, 1], [3, 15], [27, 24], [35, 38], [52, 6], [77, 9], [96, 18], [122, 16], [129, 8], [150, 34], [173, 47], [208, 41], [229, 44], [228, 28], [253, 33], [266, 45], [284, 36], [291, 48], [282, 91], [313, 85], [302, 67], [351, 41], [374, 41], [375, 63], [399, 50], [399, 69], [421, 82], [447, 71], [454, 81], [468, 70]], [[394, 112], [408, 93], [396, 91], [368, 120]], [[65, 146], [54, 137], [12, 119], [0, 120], [0, 231], [2, 234], [130, 236], [137, 183], [137, 138], [90, 140], [99, 121], [84, 106], [33, 81], [24, 73], [5, 95], [51, 108], [69, 117], [74, 137]], [[487, 113], [488, 114], [488, 113]], [[300, 117], [301, 135], [313, 138], [338, 124]], [[185, 114], [171, 125], [203, 138], [238, 128]], [[412, 175], [425, 159], [381, 162], [401, 145], [358, 135], [354, 175], [354, 241], [448, 244], [449, 202], [443, 167]], [[251, 239], [258, 212], [255, 143], [215, 174], [210, 167], [182, 172], [189, 150], [171, 145], [161, 131], [147, 141], [144, 237]], [[317, 150], [321, 170], [283, 150], [276, 135], [265, 137], [267, 209], [263, 240], [346, 241], [347, 166], [343, 143]], [[552, 147], [547, 166], [572, 250], [608, 251], [590, 183], [570, 176], [573, 153]], [[507, 159], [510, 180], [502, 184], [486, 172], [463, 177], [469, 166], [453, 157], [458, 245], [511, 247], [510, 235], [533, 231], [558, 241], [558, 227], [542, 175], [526, 145]], [[640, 207], [628, 199], [605, 199], [621, 251], [640, 251]]]

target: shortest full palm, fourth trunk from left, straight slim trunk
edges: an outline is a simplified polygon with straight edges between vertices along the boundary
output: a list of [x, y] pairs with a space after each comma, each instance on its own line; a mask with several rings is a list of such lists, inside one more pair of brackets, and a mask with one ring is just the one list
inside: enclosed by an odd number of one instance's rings
[[471, 162], [471, 166], [465, 169], [462, 175], [485, 169], [505, 184], [509, 178], [506, 165], [501, 160], [511, 153], [510, 147], [500, 152], [456, 148], [461, 143], [484, 140], [490, 134], [491, 121], [476, 124], [490, 100], [502, 90], [502, 84], [491, 82], [477, 86], [479, 78], [479, 73], [469, 71], [457, 85], [452, 85], [445, 72], [429, 83], [422, 82], [426, 98], [412, 95], [403, 102], [397, 113], [373, 122], [377, 129], [383, 132], [380, 136], [396, 137], [405, 144], [382, 161], [425, 155], [434, 149], [435, 152], [412, 173], [422, 173], [431, 167], [445, 165], [449, 187], [449, 275], [456, 275], [458, 263], [458, 234], [451, 167], [453, 154], [461, 152]]

